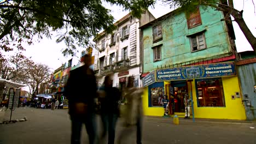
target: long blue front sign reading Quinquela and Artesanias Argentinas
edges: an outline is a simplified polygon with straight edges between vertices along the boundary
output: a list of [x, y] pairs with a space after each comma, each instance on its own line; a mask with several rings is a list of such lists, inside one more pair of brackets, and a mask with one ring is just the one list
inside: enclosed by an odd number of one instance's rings
[[188, 67], [156, 70], [157, 81], [200, 79], [205, 77], [222, 77], [234, 75], [236, 75], [234, 62], [192, 66], [190, 65]]

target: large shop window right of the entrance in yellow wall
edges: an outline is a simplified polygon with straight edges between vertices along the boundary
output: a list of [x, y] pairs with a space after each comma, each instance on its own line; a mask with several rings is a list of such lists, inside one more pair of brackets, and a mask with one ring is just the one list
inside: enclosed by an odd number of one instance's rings
[[225, 98], [221, 78], [196, 80], [198, 106], [224, 107]]

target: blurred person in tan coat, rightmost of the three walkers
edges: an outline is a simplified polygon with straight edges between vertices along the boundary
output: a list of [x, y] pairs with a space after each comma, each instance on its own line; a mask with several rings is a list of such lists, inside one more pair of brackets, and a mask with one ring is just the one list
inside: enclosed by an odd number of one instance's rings
[[131, 129], [133, 128], [133, 126], [136, 126], [137, 128], [137, 144], [142, 143], [143, 88], [134, 87], [133, 82], [133, 76], [129, 76], [127, 86], [124, 89], [123, 93], [124, 98], [126, 98], [127, 100], [127, 104], [125, 105], [126, 110], [124, 113], [122, 113], [125, 128], [120, 132], [118, 144], [120, 144], [125, 137], [131, 134]]

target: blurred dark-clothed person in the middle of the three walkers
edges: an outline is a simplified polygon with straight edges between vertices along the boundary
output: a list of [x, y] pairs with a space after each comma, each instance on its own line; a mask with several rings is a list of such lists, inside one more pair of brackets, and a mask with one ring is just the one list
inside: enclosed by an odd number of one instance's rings
[[114, 144], [115, 127], [119, 115], [118, 104], [120, 92], [118, 88], [112, 86], [113, 83], [109, 76], [105, 76], [103, 86], [100, 88], [99, 98], [101, 104], [101, 119], [103, 124], [103, 139], [108, 131], [108, 144]]

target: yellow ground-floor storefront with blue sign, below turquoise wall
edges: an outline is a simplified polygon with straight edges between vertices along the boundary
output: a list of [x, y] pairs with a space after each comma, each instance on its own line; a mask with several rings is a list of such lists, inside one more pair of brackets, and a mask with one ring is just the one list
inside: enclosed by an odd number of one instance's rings
[[161, 98], [166, 94], [170, 115], [184, 117], [188, 95], [195, 118], [246, 119], [242, 99], [235, 97], [240, 86], [234, 62], [156, 69], [142, 83], [145, 115], [162, 116]]

